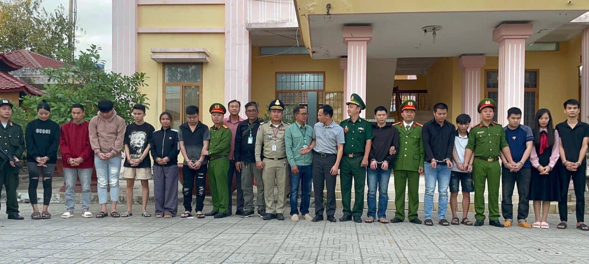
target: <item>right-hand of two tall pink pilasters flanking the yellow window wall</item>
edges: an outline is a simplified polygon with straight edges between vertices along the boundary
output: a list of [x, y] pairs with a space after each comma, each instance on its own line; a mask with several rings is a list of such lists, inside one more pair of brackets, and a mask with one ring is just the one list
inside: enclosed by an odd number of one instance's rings
[[[250, 101], [252, 72], [250, 33], [246, 28], [250, 1], [225, 1], [225, 102], [233, 99], [241, 106]], [[264, 105], [264, 102], [260, 102]], [[229, 113], [227, 113], [229, 115]], [[244, 108], [240, 116], [244, 117]]]

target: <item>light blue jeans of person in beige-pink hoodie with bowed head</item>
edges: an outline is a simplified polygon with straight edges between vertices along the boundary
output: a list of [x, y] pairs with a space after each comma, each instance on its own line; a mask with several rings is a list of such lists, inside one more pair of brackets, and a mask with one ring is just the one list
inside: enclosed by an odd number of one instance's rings
[[104, 205], [108, 202], [108, 186], [111, 188], [111, 202], [118, 202], [118, 175], [121, 172], [121, 156], [116, 156], [108, 161], [102, 161], [94, 156], [96, 178], [98, 178], [98, 203]]

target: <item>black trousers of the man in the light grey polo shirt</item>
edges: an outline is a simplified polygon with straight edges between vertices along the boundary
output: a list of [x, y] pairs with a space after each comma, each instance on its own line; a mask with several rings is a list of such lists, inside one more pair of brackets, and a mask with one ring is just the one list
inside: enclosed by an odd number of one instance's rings
[[[325, 158], [322, 158], [325, 156]], [[331, 175], [329, 171], [335, 164], [335, 154], [322, 155], [313, 152], [313, 188], [315, 192], [315, 215], [323, 215], [323, 189], [327, 187], [327, 216], [335, 215], [335, 182], [337, 175]]]

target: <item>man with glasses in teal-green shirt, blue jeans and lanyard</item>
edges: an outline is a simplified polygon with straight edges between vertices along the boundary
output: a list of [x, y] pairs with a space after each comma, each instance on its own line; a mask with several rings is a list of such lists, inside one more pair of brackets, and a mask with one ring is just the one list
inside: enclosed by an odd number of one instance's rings
[[292, 125], [286, 128], [284, 143], [286, 143], [286, 156], [290, 164], [290, 219], [299, 220], [297, 203], [299, 200], [299, 185], [302, 189], [300, 196], [300, 214], [305, 220], [312, 220], [309, 215], [309, 203], [311, 200], [311, 141], [313, 140], [313, 128], [306, 124], [307, 109], [305, 106], [297, 106], [293, 109], [296, 119]]

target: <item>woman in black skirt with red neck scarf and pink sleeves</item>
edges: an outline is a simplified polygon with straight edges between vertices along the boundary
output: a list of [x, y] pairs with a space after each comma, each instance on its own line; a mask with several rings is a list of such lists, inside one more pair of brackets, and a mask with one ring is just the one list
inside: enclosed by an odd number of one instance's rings
[[[550, 209], [550, 202], [559, 199], [558, 172], [552, 168], [559, 162], [558, 132], [552, 126], [552, 116], [548, 109], [542, 108], [536, 112], [534, 128], [534, 150], [530, 155], [532, 163], [532, 179], [530, 182], [530, 200], [534, 201], [536, 222], [534, 228], [548, 228], [546, 218]], [[558, 168], [558, 166], [556, 167]], [[542, 218], [540, 218], [542, 208]]]

